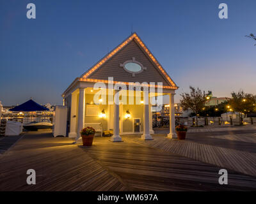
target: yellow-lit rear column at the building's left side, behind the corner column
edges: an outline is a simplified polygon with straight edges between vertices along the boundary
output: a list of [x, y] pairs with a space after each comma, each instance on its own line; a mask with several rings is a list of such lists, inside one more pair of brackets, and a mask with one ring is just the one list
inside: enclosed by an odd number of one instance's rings
[[70, 131], [69, 138], [76, 138], [77, 136], [77, 91], [71, 94], [71, 107], [70, 107]]

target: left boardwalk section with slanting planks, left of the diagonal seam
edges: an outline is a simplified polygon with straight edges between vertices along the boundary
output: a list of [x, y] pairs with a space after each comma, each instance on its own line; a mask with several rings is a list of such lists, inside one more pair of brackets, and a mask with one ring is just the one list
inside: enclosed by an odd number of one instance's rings
[[[0, 191], [125, 191], [127, 188], [69, 138], [29, 133], [0, 161]], [[36, 171], [36, 185], [26, 171]]]

